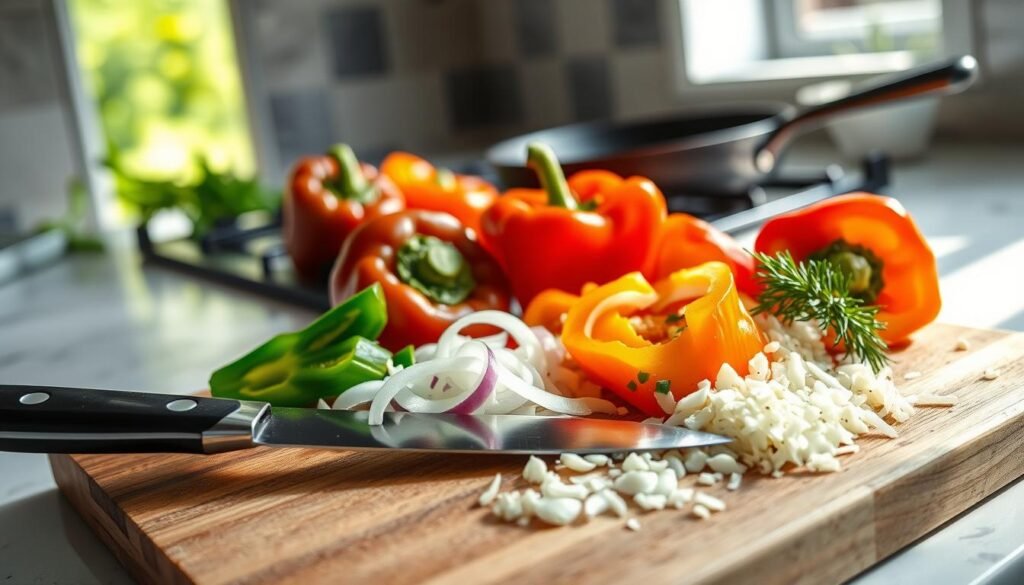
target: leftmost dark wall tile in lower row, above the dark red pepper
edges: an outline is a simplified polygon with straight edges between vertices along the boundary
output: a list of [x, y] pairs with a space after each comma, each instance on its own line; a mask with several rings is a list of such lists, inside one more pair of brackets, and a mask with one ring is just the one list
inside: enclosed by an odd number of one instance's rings
[[271, 94], [270, 123], [285, 169], [299, 157], [323, 153], [331, 145], [331, 119], [324, 91]]

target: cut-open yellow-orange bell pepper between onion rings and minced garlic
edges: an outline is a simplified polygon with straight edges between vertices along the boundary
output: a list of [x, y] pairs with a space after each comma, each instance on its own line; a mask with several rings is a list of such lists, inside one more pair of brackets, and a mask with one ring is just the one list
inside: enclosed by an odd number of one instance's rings
[[591, 380], [650, 416], [665, 416], [655, 392], [681, 399], [722, 364], [745, 375], [765, 342], [722, 262], [594, 288], [569, 307], [561, 339]]

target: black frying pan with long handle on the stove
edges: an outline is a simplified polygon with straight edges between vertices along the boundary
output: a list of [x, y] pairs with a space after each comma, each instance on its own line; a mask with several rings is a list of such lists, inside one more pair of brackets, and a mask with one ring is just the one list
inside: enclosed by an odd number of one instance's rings
[[526, 144], [542, 141], [554, 149], [566, 173], [602, 168], [649, 177], [663, 190], [744, 193], [772, 173], [799, 131], [862, 108], [959, 92], [977, 71], [975, 58], [964, 55], [867, 82], [849, 95], [802, 110], [755, 102], [626, 124], [572, 124], [509, 138], [492, 147], [486, 158], [508, 186], [537, 184], [525, 166]]

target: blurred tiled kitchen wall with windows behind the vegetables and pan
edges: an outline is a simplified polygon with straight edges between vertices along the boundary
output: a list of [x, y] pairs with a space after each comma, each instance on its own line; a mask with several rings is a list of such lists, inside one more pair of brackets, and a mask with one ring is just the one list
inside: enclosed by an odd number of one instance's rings
[[272, 200], [335, 141], [459, 160], [956, 53], [982, 76], [938, 134], [1019, 141], [1022, 39], [1018, 0], [5, 0], [0, 226], [61, 218], [76, 190], [86, 223], [130, 222], [112, 155], [135, 178], [255, 173]]

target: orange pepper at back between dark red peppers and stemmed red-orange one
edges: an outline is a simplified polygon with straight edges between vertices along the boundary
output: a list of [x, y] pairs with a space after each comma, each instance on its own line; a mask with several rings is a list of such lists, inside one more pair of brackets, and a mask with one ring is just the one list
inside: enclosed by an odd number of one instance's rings
[[498, 190], [482, 178], [434, 167], [409, 153], [388, 155], [381, 173], [401, 190], [406, 207], [451, 213], [476, 234], [480, 233], [480, 215], [498, 199]]

